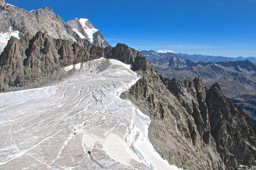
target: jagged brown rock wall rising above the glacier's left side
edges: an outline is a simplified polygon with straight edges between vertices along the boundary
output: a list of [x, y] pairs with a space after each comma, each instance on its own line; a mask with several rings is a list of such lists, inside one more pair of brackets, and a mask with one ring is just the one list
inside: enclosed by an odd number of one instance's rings
[[12, 37], [0, 55], [0, 91], [37, 87], [58, 80], [61, 67], [103, 57], [104, 48], [81, 46], [65, 39], [52, 39], [41, 31], [29, 39]]

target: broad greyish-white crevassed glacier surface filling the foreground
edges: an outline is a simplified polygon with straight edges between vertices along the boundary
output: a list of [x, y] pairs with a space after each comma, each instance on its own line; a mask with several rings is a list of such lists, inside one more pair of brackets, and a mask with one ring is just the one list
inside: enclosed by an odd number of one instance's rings
[[150, 118], [120, 98], [139, 79], [128, 65], [70, 69], [50, 87], [0, 94], [0, 169], [178, 169], [150, 144]]

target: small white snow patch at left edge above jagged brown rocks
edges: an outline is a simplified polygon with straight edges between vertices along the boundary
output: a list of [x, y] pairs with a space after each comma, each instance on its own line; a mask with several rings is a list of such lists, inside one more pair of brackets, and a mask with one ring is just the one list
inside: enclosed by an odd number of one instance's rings
[[7, 45], [12, 36], [20, 39], [20, 32], [13, 31], [12, 27], [10, 27], [9, 32], [0, 32], [0, 53], [3, 52], [4, 47]]

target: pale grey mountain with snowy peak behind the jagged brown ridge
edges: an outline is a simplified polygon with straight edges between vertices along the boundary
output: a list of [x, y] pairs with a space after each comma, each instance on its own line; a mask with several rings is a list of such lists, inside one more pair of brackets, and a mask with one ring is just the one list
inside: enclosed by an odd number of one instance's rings
[[[20, 38], [22, 36], [29, 36], [32, 38], [36, 32], [42, 31], [47, 33], [51, 38], [69, 39], [76, 41], [80, 45], [90, 41], [95, 46], [109, 46], [99, 32], [90, 21], [86, 20], [83, 36], [76, 31], [76, 27], [72, 27], [70, 22], [63, 22], [60, 16], [55, 15], [51, 8], [43, 8], [40, 10], [26, 11], [16, 6], [6, 5], [5, 8], [0, 8], [0, 32], [19, 31]], [[76, 22], [77, 19], [74, 20]], [[79, 25], [80, 27], [81, 24]], [[92, 31], [92, 29], [94, 31]], [[87, 32], [86, 32], [87, 31]], [[92, 37], [92, 38], [90, 38]]]

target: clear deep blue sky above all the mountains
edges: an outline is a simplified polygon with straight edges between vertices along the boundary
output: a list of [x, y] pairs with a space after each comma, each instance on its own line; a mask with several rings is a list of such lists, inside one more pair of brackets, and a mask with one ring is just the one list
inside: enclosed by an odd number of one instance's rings
[[50, 7], [63, 20], [88, 18], [115, 46], [256, 57], [256, 0], [6, 0]]

